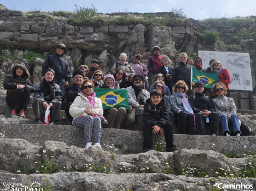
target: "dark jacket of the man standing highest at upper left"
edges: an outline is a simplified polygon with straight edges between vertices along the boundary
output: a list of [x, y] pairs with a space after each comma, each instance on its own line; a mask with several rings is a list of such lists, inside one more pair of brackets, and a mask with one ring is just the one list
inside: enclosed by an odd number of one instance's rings
[[42, 73], [44, 74], [49, 67], [54, 70], [55, 78], [65, 79], [65, 82], [70, 82], [69, 63], [62, 58], [62, 55], [55, 53], [54, 55], [48, 56], [43, 64]]

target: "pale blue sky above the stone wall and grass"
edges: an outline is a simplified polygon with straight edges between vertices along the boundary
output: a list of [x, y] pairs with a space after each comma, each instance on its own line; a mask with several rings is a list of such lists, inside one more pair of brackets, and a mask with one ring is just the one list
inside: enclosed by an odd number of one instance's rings
[[194, 19], [221, 18], [256, 15], [256, 0], [141, 0], [141, 1], [70, 1], [70, 0], [0, 0], [8, 9], [19, 11], [74, 11], [75, 4], [97, 8], [99, 13], [169, 12], [172, 8], [183, 8], [186, 17]]

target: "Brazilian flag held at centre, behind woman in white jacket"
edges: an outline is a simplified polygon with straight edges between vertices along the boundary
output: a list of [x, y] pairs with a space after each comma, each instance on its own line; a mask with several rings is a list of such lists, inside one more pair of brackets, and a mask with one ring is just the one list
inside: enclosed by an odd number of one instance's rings
[[94, 92], [96, 97], [101, 99], [103, 109], [112, 107], [130, 109], [126, 89], [94, 88]]

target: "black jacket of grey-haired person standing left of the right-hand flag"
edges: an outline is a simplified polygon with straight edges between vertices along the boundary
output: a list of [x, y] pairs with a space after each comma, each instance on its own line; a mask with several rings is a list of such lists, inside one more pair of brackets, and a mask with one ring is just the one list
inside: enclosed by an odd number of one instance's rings
[[191, 69], [187, 68], [186, 65], [181, 62], [179, 66], [173, 68], [172, 74], [172, 85], [176, 84], [179, 80], [185, 81], [190, 86]]

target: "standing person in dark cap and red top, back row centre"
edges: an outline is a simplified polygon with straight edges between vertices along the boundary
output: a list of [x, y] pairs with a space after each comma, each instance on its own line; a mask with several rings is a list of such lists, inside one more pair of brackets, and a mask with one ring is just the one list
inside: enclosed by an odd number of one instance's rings
[[153, 74], [153, 79], [154, 79], [157, 69], [160, 66], [163, 66], [160, 62], [162, 59], [162, 55], [160, 55], [159, 53], [160, 53], [159, 46], [154, 46], [153, 47], [153, 56], [150, 56], [148, 58], [148, 67], [147, 68]]

